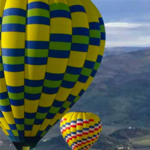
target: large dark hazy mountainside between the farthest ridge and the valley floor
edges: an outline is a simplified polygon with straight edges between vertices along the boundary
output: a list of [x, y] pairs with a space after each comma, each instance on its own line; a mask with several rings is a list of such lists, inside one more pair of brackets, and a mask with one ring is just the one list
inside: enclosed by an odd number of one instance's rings
[[73, 110], [97, 113], [104, 125], [150, 126], [150, 50], [104, 57]]

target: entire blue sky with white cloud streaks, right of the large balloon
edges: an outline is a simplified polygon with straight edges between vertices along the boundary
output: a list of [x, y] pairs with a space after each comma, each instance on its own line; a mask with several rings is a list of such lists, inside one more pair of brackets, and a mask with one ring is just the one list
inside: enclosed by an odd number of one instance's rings
[[106, 47], [150, 47], [150, 0], [92, 0], [106, 27]]

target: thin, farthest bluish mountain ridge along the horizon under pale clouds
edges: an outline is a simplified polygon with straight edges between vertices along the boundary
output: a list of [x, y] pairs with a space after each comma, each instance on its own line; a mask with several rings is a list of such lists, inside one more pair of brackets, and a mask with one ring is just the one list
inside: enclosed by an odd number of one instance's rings
[[108, 55], [120, 55], [122, 53], [129, 53], [133, 51], [139, 51], [139, 50], [148, 50], [149, 47], [107, 47], [105, 49], [104, 56]]

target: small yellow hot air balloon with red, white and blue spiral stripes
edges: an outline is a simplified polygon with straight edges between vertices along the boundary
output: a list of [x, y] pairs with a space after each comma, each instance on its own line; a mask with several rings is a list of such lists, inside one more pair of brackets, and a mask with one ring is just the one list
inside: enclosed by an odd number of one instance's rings
[[98, 140], [102, 124], [93, 113], [70, 112], [62, 118], [60, 129], [72, 150], [89, 150]]

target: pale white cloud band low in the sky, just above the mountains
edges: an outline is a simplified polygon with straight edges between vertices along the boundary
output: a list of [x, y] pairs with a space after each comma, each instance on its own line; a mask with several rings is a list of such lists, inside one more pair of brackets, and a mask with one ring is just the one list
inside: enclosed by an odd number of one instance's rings
[[150, 23], [108, 22], [106, 46], [150, 46]]

